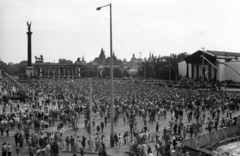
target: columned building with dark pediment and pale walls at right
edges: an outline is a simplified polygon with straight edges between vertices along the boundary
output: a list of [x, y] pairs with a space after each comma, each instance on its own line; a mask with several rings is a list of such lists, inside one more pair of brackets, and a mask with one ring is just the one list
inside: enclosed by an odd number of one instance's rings
[[240, 53], [199, 50], [179, 62], [178, 70], [188, 78], [240, 82]]

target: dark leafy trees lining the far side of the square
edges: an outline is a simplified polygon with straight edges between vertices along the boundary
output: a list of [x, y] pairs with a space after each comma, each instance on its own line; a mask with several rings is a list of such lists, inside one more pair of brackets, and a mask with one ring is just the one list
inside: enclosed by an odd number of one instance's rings
[[[183, 61], [184, 58], [189, 56], [186, 52], [180, 54], [171, 54], [169, 56], [152, 56], [151, 60], [144, 60], [138, 66], [138, 71], [133, 77], [140, 79], [162, 79], [162, 80], [178, 80], [178, 63]], [[66, 59], [59, 59], [59, 63], [72, 64], [73, 62]], [[120, 62], [118, 62], [119, 64]], [[21, 75], [25, 74], [27, 68], [27, 61], [21, 61], [16, 64], [7, 64], [0, 61], [2, 72], [7, 72], [9, 75]], [[124, 68], [123, 64], [113, 68], [114, 78], [129, 77], [129, 68]], [[110, 68], [105, 67], [101, 72], [98, 66], [92, 65], [92, 63], [83, 64], [81, 67], [82, 77], [99, 77], [109, 78]]]

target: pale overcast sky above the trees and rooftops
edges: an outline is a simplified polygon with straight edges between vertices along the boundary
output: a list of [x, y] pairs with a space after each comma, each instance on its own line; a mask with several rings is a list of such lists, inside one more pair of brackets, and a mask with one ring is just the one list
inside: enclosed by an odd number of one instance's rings
[[239, 0], [0, 0], [0, 59], [27, 60], [27, 21], [32, 22], [32, 62], [60, 58], [92, 61], [101, 48], [128, 61], [206, 50], [240, 52]]

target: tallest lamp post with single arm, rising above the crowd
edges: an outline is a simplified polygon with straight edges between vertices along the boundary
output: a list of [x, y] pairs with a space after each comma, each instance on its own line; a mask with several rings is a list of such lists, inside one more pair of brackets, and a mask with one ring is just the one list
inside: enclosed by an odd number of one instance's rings
[[111, 57], [111, 65], [110, 65], [110, 81], [111, 81], [111, 136], [114, 135], [114, 127], [113, 127], [113, 59], [112, 59], [112, 4], [104, 5], [98, 7], [96, 10], [101, 10], [103, 7], [110, 7], [110, 57]]

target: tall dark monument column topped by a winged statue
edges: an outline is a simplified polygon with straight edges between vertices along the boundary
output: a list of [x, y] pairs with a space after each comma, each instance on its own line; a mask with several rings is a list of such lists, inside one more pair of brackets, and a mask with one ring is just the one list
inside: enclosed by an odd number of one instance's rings
[[26, 70], [26, 74], [28, 76], [33, 75], [33, 66], [32, 66], [32, 41], [31, 41], [31, 24], [32, 22], [28, 23], [27, 22], [27, 26], [28, 26], [28, 32], [27, 32], [27, 36], [28, 36], [28, 65], [27, 65], [27, 70]]

